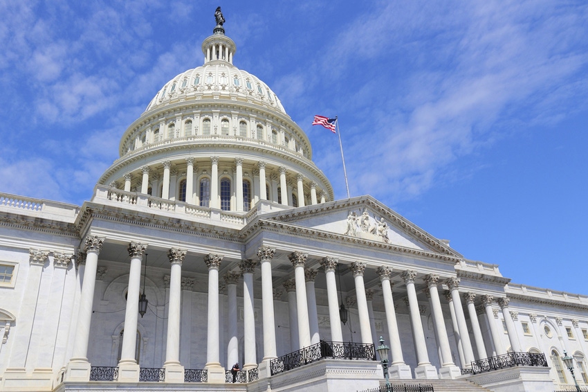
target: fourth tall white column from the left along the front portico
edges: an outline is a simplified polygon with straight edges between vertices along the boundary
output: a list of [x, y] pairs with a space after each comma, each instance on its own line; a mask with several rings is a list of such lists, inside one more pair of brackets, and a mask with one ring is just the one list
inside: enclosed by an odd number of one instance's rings
[[204, 256], [204, 262], [208, 267], [208, 339], [205, 369], [208, 371], [208, 382], [212, 384], [225, 382], [225, 370], [220, 360], [221, 332], [219, 330], [219, 269], [222, 261], [223, 256], [217, 254], [209, 253]]

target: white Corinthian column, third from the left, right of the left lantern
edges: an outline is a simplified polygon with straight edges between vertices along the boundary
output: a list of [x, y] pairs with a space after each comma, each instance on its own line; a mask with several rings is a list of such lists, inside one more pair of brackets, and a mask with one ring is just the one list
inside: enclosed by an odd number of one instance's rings
[[186, 251], [169, 249], [169, 305], [167, 312], [167, 343], [165, 346], [165, 382], [183, 382], [184, 367], [180, 363], [180, 314], [182, 292], [182, 262]]

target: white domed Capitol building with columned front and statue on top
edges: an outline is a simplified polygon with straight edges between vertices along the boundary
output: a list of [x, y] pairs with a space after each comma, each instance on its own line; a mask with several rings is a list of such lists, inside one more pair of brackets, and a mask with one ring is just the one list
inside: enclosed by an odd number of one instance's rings
[[0, 193], [1, 391], [588, 387], [588, 296], [335, 199], [216, 19], [91, 200]]

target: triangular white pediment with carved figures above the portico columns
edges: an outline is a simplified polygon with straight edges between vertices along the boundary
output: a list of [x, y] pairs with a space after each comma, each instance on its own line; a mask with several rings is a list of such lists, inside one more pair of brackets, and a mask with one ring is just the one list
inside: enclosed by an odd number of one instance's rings
[[289, 212], [264, 215], [264, 219], [461, 258], [447, 244], [371, 196], [293, 208]]

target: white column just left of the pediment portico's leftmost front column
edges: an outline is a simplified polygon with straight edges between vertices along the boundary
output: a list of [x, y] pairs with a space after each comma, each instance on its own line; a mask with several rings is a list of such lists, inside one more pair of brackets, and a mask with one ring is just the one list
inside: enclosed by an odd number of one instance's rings
[[243, 368], [255, 368], [257, 366], [257, 353], [255, 352], [255, 305], [253, 303], [253, 271], [257, 261], [241, 260], [239, 267], [243, 275]]

